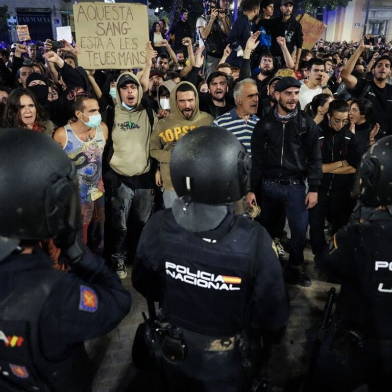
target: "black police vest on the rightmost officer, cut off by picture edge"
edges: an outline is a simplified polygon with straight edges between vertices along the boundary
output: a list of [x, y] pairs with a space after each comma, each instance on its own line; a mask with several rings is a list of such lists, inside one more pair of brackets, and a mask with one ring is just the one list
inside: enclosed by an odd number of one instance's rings
[[[392, 338], [392, 246], [387, 242], [388, 233], [392, 229], [392, 218], [376, 220], [370, 224], [354, 226], [353, 238], [359, 246], [355, 246], [354, 259], [358, 262], [355, 271], [359, 282], [359, 292], [350, 289], [351, 296], [357, 303], [347, 306], [359, 321], [366, 336], [376, 338]], [[354, 244], [353, 244], [354, 246]], [[360, 265], [363, 264], [363, 268]], [[354, 273], [354, 272], [353, 272]], [[341, 292], [344, 293], [342, 286]], [[358, 303], [358, 298], [363, 299]]]

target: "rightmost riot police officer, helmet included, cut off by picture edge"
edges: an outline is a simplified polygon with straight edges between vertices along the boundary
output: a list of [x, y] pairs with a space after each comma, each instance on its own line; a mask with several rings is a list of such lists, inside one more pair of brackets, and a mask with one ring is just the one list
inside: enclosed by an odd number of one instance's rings
[[314, 375], [317, 391], [384, 390], [392, 377], [392, 136], [360, 163], [352, 222], [332, 238], [321, 269], [341, 281], [334, 327]]

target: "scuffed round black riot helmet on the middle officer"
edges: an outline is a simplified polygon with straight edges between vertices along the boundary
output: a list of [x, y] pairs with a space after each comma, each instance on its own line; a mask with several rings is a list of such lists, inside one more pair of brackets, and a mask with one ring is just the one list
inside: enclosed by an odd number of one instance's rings
[[179, 197], [204, 204], [225, 204], [249, 190], [251, 158], [228, 130], [200, 127], [175, 146], [170, 176]]

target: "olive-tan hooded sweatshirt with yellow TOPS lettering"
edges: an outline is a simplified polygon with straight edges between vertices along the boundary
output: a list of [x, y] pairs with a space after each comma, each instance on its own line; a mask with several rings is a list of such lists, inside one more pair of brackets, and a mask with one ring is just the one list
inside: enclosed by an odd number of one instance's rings
[[[177, 106], [177, 89], [183, 84], [192, 87], [195, 96], [195, 110], [192, 117], [186, 118]], [[170, 93], [170, 114], [160, 119], [155, 125], [151, 135], [150, 154], [160, 162], [162, 186], [167, 190], [174, 190], [170, 178], [169, 163], [171, 151], [177, 141], [189, 131], [204, 125], [211, 125], [214, 118], [199, 110], [199, 95], [193, 84], [180, 82]]]

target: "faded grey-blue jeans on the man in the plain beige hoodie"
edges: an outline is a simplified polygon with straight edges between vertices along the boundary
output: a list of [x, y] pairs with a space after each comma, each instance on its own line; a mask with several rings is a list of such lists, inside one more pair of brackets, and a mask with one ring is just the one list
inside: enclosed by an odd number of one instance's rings
[[121, 183], [112, 196], [111, 259], [114, 264], [127, 261], [127, 233], [130, 215], [132, 215], [132, 222], [135, 225], [144, 226], [150, 218], [153, 199], [154, 195], [152, 195], [151, 189], [132, 189], [124, 183]]

